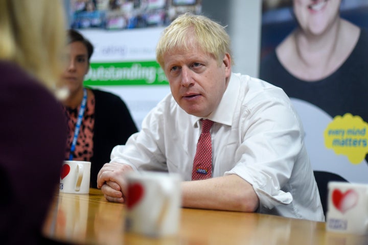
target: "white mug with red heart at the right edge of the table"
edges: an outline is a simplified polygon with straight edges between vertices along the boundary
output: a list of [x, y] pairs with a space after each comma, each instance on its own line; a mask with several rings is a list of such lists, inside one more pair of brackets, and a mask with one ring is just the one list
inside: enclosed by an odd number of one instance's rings
[[368, 185], [328, 183], [328, 231], [368, 234]]

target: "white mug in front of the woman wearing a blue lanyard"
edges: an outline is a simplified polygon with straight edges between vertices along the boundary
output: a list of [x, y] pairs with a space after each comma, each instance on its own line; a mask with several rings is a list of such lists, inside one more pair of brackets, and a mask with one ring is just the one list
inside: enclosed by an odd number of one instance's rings
[[88, 194], [90, 162], [64, 161], [60, 173], [60, 192]]

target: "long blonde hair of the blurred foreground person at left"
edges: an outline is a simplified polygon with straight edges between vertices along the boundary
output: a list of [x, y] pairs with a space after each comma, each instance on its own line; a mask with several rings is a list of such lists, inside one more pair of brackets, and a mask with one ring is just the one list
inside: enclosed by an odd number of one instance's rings
[[0, 60], [18, 64], [54, 94], [59, 91], [66, 44], [59, 0], [0, 0], [0, 36]]

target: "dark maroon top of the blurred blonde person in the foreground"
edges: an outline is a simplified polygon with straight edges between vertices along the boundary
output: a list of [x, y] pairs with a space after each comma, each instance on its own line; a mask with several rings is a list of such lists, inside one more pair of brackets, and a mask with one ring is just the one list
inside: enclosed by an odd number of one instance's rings
[[66, 124], [54, 96], [17, 65], [0, 61], [0, 241], [40, 244], [57, 190]]

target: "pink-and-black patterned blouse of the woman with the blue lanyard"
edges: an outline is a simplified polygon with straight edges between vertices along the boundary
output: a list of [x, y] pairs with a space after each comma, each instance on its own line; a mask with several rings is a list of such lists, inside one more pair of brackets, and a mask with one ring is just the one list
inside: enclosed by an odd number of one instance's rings
[[[82, 125], [79, 131], [77, 144], [73, 154], [73, 160], [90, 161], [93, 156], [93, 136], [95, 126], [95, 95], [91, 93], [87, 97], [86, 109], [84, 111]], [[69, 160], [72, 141], [74, 138], [74, 130], [77, 123], [78, 112], [80, 105], [77, 108], [64, 107], [67, 120], [67, 140], [65, 150], [65, 160]]]

